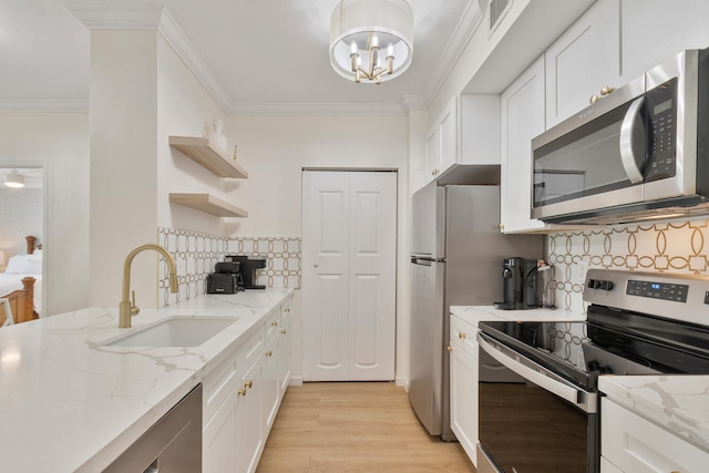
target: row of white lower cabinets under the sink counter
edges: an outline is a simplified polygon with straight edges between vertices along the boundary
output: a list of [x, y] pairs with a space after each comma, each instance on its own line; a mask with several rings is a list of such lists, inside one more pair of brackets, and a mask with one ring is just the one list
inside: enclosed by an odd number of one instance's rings
[[204, 472], [251, 473], [290, 379], [290, 297], [203, 380]]

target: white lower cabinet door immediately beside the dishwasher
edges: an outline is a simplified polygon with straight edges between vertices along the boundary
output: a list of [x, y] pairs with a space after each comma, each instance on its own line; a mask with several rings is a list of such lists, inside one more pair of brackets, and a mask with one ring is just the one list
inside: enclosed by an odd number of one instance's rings
[[202, 432], [202, 470], [238, 473], [236, 390], [224, 401]]

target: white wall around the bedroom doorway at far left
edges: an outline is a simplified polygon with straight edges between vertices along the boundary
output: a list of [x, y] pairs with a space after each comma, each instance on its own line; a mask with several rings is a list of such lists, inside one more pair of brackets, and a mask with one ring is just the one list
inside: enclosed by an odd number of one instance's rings
[[47, 175], [43, 315], [89, 306], [89, 114], [0, 113], [0, 163]]

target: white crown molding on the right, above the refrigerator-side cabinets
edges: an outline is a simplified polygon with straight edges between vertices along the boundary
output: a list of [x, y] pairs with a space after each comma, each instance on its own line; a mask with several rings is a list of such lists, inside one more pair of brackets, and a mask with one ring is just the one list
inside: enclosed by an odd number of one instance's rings
[[431, 80], [423, 91], [423, 96], [428, 103], [433, 101], [435, 94], [438, 94], [443, 86], [443, 83], [455, 66], [465, 47], [467, 47], [473, 34], [475, 34], [475, 31], [477, 31], [482, 24], [483, 19], [483, 12], [480, 9], [477, 0], [470, 0], [461, 20], [455, 25], [451, 40], [445, 45], [443, 54], [441, 54], [439, 62], [433, 69]]

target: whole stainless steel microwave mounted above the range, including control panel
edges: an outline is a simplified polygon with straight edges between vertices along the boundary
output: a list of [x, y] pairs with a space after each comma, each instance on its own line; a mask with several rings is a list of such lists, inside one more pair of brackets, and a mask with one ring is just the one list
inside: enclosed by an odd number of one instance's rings
[[688, 50], [532, 140], [532, 216], [709, 214], [709, 49]]

